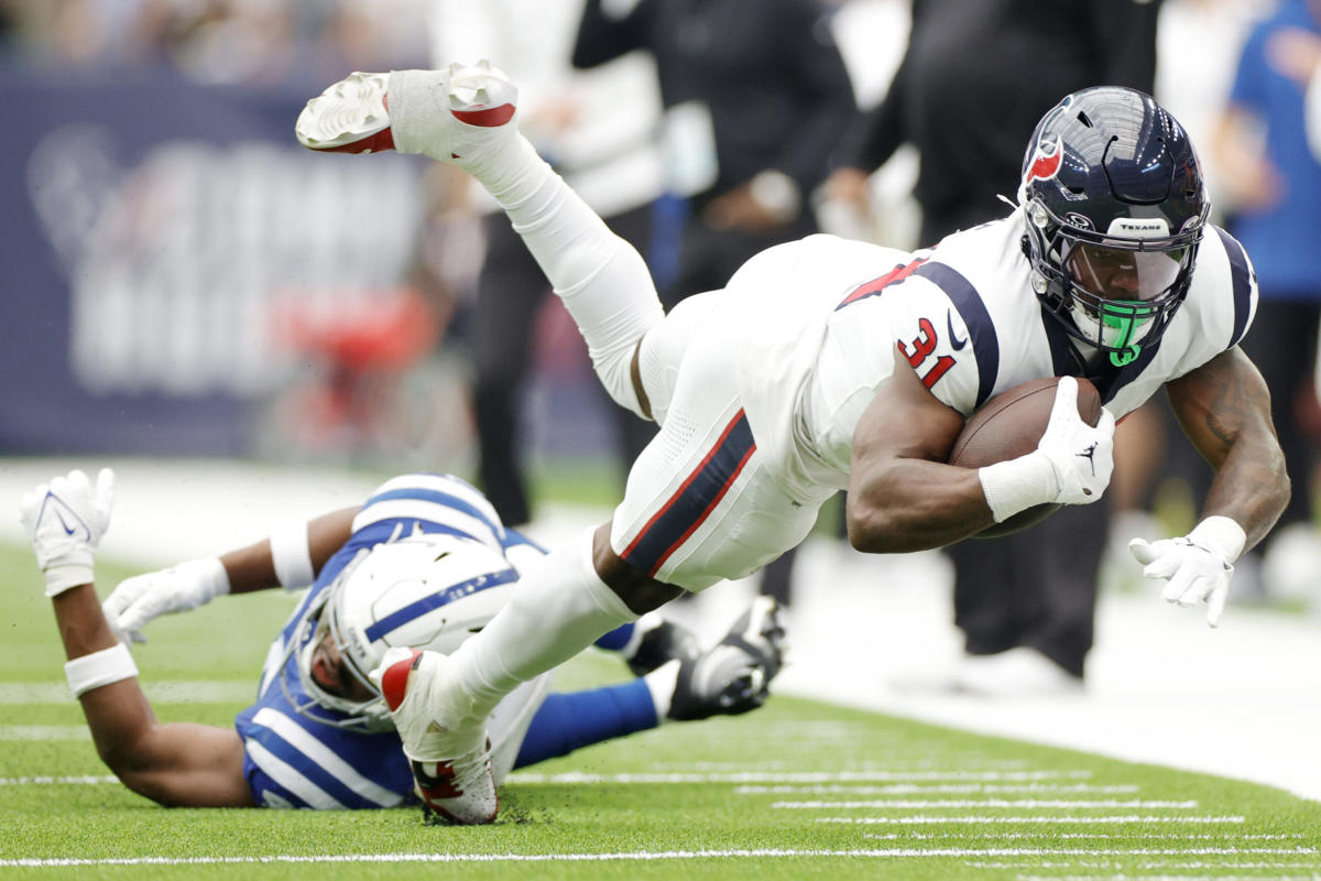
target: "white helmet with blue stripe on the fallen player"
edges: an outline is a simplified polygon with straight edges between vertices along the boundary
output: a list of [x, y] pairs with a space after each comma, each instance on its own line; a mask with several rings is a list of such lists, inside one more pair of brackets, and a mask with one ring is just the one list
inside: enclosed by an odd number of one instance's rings
[[[359, 551], [322, 590], [322, 600], [308, 608], [291, 641], [299, 684], [310, 701], [289, 693], [281, 675], [289, 703], [329, 725], [388, 730], [390, 711], [367, 672], [395, 646], [452, 654], [499, 612], [515, 581], [518, 572], [498, 551], [453, 535], [416, 532]], [[312, 655], [328, 633], [349, 675], [373, 692], [371, 699], [332, 695], [312, 676]]]

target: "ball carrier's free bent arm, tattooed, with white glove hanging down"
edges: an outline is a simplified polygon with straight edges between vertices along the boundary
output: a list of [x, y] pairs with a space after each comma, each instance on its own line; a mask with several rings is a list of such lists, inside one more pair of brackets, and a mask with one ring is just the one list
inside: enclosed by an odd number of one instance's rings
[[1206, 621], [1214, 627], [1229, 598], [1234, 563], [1280, 518], [1289, 501], [1289, 477], [1271, 423], [1269, 390], [1240, 350], [1217, 355], [1170, 382], [1166, 391], [1215, 479], [1192, 532], [1157, 542], [1136, 538], [1129, 548], [1143, 575], [1165, 581], [1165, 600], [1181, 606], [1206, 602]]

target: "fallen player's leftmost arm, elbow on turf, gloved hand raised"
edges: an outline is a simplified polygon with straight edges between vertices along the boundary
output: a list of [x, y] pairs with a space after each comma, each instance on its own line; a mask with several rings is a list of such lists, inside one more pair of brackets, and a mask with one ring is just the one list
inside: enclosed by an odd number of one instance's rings
[[111, 633], [92, 586], [110, 524], [114, 474], [82, 472], [22, 497], [21, 518], [65, 643], [65, 674], [102, 761], [135, 793], [168, 806], [251, 807], [243, 745], [231, 728], [156, 720], [128, 647]]

